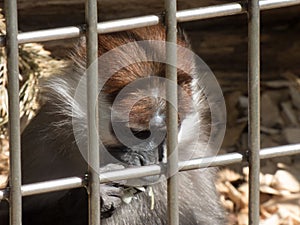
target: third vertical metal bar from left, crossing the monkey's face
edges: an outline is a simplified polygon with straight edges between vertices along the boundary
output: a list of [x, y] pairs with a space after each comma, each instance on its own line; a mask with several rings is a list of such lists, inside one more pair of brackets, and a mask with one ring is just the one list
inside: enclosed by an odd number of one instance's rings
[[[176, 0], [165, 0], [167, 47], [166, 78], [177, 84], [177, 21]], [[178, 115], [177, 115], [177, 85], [168, 83], [167, 91], [167, 156], [168, 156], [168, 224], [179, 224], [178, 207]], [[171, 105], [175, 103], [175, 105]]]

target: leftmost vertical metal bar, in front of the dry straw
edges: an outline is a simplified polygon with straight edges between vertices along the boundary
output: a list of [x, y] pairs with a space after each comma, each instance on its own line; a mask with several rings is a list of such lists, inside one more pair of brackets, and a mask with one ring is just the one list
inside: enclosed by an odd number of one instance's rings
[[17, 1], [5, 1], [9, 94], [10, 224], [22, 223]]

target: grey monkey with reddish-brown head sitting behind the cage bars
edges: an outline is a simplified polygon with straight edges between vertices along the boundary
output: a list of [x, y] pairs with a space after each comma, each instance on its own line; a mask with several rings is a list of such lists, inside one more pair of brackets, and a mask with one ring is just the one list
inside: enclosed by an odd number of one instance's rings
[[[162, 97], [166, 85], [160, 80], [165, 77], [165, 63], [157, 60], [165, 57], [165, 46], [160, 45], [165, 33], [163, 25], [156, 25], [99, 35], [98, 71], [99, 80], [104, 80], [99, 83], [102, 87], [98, 97], [100, 172], [166, 162], [167, 100]], [[181, 31], [177, 39], [178, 46], [190, 48]], [[145, 40], [150, 41], [143, 43]], [[155, 41], [158, 44], [153, 44]], [[128, 43], [129, 48], [122, 47]], [[203, 88], [197, 85], [201, 74], [194, 58], [180, 49], [177, 54], [178, 151], [179, 160], [187, 160], [209, 155], [209, 150], [204, 153], [203, 149], [211, 131], [211, 113]], [[40, 85], [44, 104], [22, 134], [22, 184], [84, 177], [88, 171], [84, 153], [86, 90], [80, 88], [86, 77], [84, 38], [71, 59], [72, 66], [63, 75], [52, 76]], [[146, 79], [144, 86], [130, 86], [139, 79]], [[136, 139], [124, 143], [118, 129], [123, 138], [129, 130], [129, 136]], [[226, 223], [214, 185], [215, 173], [214, 168], [179, 173], [179, 224]], [[167, 185], [162, 177], [101, 184], [101, 224], [167, 224]], [[134, 191], [131, 201], [125, 203], [128, 190]], [[149, 196], [149, 192], [153, 193]], [[87, 225], [87, 191], [79, 188], [23, 197], [22, 213], [23, 225]], [[0, 224], [9, 224], [4, 201], [0, 203]]]

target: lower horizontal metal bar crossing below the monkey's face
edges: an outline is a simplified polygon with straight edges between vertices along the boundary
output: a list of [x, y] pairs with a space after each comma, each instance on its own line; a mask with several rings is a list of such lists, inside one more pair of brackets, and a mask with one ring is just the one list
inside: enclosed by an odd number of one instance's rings
[[[260, 151], [261, 159], [275, 158], [288, 155], [300, 154], [300, 144], [283, 145], [279, 147], [265, 148]], [[219, 155], [216, 157], [205, 157], [199, 159], [192, 159], [188, 161], [179, 162], [180, 171], [187, 171], [193, 169], [200, 169], [214, 166], [225, 166], [235, 163], [241, 163], [243, 161], [243, 155], [240, 153], [228, 153]], [[154, 176], [163, 173], [164, 166], [151, 165], [142, 166], [136, 168], [127, 168], [124, 170], [110, 171], [100, 174], [100, 183], [107, 183], [111, 181], [127, 180], [132, 178]], [[78, 188], [83, 186], [83, 180], [79, 177], [71, 177], [58, 179], [53, 181], [45, 181], [36, 184], [28, 184], [22, 186], [22, 193], [25, 195], [45, 193], [45, 189], [48, 191], [60, 191], [68, 188]], [[81, 185], [80, 185], [81, 184]], [[24, 189], [25, 187], [25, 189]], [[25, 193], [26, 192], [26, 193]], [[0, 200], [4, 199], [7, 191], [0, 190]]]

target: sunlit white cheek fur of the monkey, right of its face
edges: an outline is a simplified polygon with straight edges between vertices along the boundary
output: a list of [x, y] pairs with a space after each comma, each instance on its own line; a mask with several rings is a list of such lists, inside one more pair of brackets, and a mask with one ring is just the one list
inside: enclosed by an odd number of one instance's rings
[[179, 160], [201, 157], [206, 149], [206, 134], [200, 128], [199, 113], [187, 115], [181, 123], [178, 133]]

